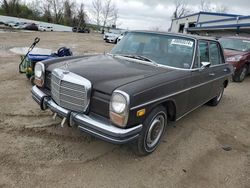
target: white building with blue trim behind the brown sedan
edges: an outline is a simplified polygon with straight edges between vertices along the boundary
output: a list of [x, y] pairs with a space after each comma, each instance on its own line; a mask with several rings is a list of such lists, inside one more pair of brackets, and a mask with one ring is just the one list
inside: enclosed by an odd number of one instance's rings
[[173, 19], [170, 31], [212, 36], [235, 34], [250, 36], [250, 16], [198, 12]]

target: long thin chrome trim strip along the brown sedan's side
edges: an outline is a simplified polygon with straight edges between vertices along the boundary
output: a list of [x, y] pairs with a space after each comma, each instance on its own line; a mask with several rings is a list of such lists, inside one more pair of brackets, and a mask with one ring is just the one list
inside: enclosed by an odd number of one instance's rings
[[194, 89], [194, 88], [197, 88], [197, 87], [206, 85], [206, 84], [211, 83], [211, 82], [213, 82], [213, 81], [220, 80], [220, 79], [225, 78], [225, 77], [230, 76], [230, 75], [231, 75], [231, 74], [227, 74], [227, 75], [225, 75], [225, 76], [221, 76], [221, 77], [219, 77], [219, 78], [210, 80], [210, 81], [208, 81], [208, 82], [205, 82], [205, 83], [202, 83], [202, 84], [198, 84], [198, 85], [193, 86], [193, 87], [189, 87], [189, 88], [187, 88], [187, 89], [184, 89], [184, 90], [181, 90], [181, 91], [172, 93], [172, 94], [170, 94], [170, 95], [166, 95], [166, 96], [160, 97], [160, 98], [158, 98], [158, 99], [155, 99], [155, 100], [152, 100], [152, 101], [145, 102], [145, 103], [143, 103], [143, 104], [140, 104], [140, 105], [131, 107], [130, 110], [135, 110], [135, 109], [137, 109], [137, 108], [141, 108], [141, 107], [143, 107], [143, 106], [146, 106], [146, 105], [149, 105], [149, 104], [152, 104], [152, 103], [155, 103], [155, 102], [158, 102], [158, 101], [167, 99], [167, 98], [169, 98], [169, 97], [172, 97], [172, 96], [178, 95], [178, 94], [180, 94], [180, 93], [189, 91], [189, 90], [191, 90], [191, 89]]

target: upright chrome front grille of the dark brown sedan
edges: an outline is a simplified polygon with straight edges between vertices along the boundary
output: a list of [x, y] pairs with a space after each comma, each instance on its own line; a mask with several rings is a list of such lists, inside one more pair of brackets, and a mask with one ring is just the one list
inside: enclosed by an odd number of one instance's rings
[[55, 69], [51, 75], [51, 96], [61, 107], [76, 112], [85, 112], [89, 104], [91, 84], [73, 73]]

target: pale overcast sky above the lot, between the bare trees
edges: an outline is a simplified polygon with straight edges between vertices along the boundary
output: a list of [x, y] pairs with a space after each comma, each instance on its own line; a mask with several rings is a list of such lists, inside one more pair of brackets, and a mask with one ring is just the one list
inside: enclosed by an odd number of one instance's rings
[[[118, 26], [124, 29], [168, 30], [174, 11], [174, 0], [113, 0], [119, 9]], [[78, 2], [81, 2], [78, 0]], [[187, 0], [193, 12], [199, 11], [200, 0]], [[228, 13], [250, 15], [249, 0], [210, 0], [211, 4], [223, 4]], [[91, 11], [92, 0], [84, 0], [86, 11]]]

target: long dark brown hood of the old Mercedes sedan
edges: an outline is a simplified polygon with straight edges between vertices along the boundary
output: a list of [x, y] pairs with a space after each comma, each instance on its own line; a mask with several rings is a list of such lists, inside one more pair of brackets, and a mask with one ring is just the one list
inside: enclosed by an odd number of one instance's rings
[[112, 94], [118, 87], [131, 82], [172, 71], [172, 69], [160, 68], [109, 55], [95, 55], [60, 61], [47, 66], [47, 70], [53, 71], [54, 68], [65, 69], [66, 62], [70, 72], [88, 79], [92, 83], [94, 90], [107, 94]]

